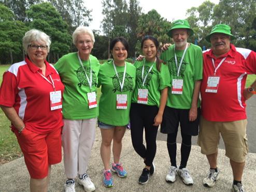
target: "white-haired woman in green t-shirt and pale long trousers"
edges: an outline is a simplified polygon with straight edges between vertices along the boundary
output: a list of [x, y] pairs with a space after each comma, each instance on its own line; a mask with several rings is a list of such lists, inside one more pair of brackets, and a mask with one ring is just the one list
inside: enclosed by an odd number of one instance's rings
[[87, 174], [98, 116], [97, 58], [91, 55], [95, 42], [91, 29], [79, 26], [73, 33], [78, 52], [68, 53], [54, 65], [65, 85], [63, 94], [62, 146], [67, 176], [65, 191], [75, 191], [75, 178], [86, 191], [95, 190]]

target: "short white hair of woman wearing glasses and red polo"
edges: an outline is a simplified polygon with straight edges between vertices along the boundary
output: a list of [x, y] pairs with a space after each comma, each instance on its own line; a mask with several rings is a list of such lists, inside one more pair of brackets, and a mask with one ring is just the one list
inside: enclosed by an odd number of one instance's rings
[[27, 31], [22, 38], [22, 46], [27, 53], [27, 47], [30, 45], [32, 41], [43, 41], [47, 45], [47, 52], [50, 52], [50, 45], [51, 45], [51, 39], [50, 36], [48, 36], [46, 33], [41, 32], [37, 29], [31, 29], [30, 31]]

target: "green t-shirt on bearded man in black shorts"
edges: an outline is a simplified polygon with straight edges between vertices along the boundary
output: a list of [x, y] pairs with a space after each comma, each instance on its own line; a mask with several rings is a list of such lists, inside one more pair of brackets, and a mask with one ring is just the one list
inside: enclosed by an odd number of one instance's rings
[[[178, 66], [183, 54], [183, 50], [176, 50]], [[161, 59], [167, 63], [170, 72], [171, 84], [173, 79], [183, 79], [182, 95], [172, 94], [171, 88], [168, 90], [167, 106], [176, 109], [190, 109], [194, 91], [194, 82], [203, 78], [203, 54], [202, 49], [190, 43], [180, 67], [179, 77], [177, 77], [177, 67], [174, 57], [174, 45], [161, 54]], [[198, 99], [197, 107], [200, 107]]]

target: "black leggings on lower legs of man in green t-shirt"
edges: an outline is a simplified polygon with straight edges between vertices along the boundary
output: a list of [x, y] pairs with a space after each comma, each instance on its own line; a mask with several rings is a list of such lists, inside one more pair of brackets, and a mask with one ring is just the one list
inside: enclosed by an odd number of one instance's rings
[[[191, 151], [191, 137], [190, 135], [185, 135], [181, 133], [182, 137], [182, 143], [180, 148], [181, 153], [181, 161], [180, 161], [180, 167], [185, 168], [187, 166], [187, 162], [189, 159], [189, 154]], [[172, 134], [167, 134], [167, 149], [170, 157], [170, 164], [172, 166], [177, 167], [176, 165], [176, 150], [177, 150], [177, 144], [176, 144], [176, 138], [177, 138], [177, 131]]]

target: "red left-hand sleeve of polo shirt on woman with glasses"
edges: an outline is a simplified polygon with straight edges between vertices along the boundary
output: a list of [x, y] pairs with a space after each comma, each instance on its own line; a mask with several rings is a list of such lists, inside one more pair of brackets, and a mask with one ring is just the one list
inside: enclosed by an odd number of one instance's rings
[[3, 75], [3, 82], [0, 87], [0, 105], [13, 107], [18, 93], [19, 90], [16, 76], [11, 72], [6, 71]]

